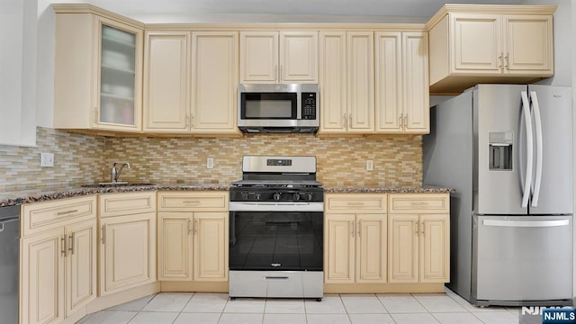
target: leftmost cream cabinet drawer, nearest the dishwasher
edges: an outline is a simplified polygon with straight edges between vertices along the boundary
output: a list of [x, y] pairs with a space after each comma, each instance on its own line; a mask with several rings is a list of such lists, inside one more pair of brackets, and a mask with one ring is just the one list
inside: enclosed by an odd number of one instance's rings
[[25, 204], [22, 208], [22, 236], [64, 226], [67, 220], [96, 216], [96, 196], [59, 199]]

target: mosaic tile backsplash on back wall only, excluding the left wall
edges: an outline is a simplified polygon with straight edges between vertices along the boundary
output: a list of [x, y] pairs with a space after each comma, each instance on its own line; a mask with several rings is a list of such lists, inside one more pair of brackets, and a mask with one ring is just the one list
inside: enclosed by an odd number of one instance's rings
[[[229, 184], [242, 176], [244, 155], [317, 157], [318, 179], [329, 185], [419, 185], [421, 137], [318, 138], [304, 134], [250, 135], [240, 139], [106, 139], [106, 162], [128, 161], [124, 181]], [[214, 168], [206, 168], [206, 158]], [[374, 171], [365, 170], [366, 160]]]

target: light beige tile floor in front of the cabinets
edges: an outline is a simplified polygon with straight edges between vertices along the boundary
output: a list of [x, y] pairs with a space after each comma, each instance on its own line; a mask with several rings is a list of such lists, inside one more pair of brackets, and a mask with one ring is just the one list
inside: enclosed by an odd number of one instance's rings
[[455, 293], [327, 294], [241, 299], [226, 293], [157, 293], [87, 315], [82, 324], [518, 324], [518, 308], [478, 308]]

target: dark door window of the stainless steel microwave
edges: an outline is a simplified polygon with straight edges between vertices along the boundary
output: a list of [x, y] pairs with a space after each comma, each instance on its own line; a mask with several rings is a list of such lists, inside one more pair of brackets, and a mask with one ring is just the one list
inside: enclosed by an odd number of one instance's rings
[[242, 119], [297, 119], [295, 93], [245, 93], [240, 104]]

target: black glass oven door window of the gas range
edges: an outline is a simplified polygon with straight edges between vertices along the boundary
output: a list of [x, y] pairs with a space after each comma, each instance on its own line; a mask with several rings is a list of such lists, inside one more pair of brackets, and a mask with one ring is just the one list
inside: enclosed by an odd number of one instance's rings
[[230, 270], [321, 271], [322, 242], [322, 212], [230, 212]]

